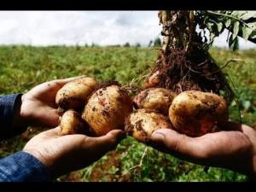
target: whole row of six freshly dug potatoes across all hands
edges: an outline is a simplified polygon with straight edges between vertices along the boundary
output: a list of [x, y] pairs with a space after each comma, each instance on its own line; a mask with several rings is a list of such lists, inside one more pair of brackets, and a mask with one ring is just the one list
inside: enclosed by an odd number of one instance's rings
[[[217, 131], [228, 120], [224, 98], [196, 90], [176, 94], [163, 88], [142, 90], [131, 99], [117, 84], [98, 87], [93, 78], [65, 84], [56, 95], [61, 117], [61, 133], [103, 136], [123, 129], [137, 141], [146, 143], [156, 129], [174, 129], [190, 137]], [[135, 109], [135, 110], [134, 110]]]

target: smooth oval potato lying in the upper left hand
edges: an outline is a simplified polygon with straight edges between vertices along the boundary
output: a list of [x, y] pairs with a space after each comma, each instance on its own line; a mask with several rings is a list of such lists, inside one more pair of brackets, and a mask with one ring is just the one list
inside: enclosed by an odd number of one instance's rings
[[80, 78], [65, 84], [55, 97], [56, 104], [67, 109], [82, 109], [92, 91], [96, 88], [96, 79]]

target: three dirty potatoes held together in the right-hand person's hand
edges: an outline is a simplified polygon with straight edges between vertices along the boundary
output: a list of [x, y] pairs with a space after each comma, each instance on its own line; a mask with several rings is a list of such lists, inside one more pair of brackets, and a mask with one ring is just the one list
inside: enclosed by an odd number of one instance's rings
[[140, 92], [134, 102], [139, 109], [131, 113], [125, 129], [143, 143], [156, 129], [169, 128], [200, 137], [218, 131], [219, 125], [228, 120], [224, 98], [209, 92], [187, 90], [176, 95], [172, 90], [149, 88]]

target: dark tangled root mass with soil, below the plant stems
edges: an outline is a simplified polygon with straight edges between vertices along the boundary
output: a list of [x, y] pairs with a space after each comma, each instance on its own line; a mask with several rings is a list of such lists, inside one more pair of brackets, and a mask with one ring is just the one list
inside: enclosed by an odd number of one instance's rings
[[224, 90], [226, 100], [230, 101], [233, 96], [218, 65], [207, 51], [197, 46], [190, 52], [183, 49], [174, 49], [168, 55], [160, 52], [148, 78], [154, 73], [159, 73], [159, 83], [154, 87], [173, 90], [177, 94], [185, 90], [201, 90], [219, 95], [220, 90]]

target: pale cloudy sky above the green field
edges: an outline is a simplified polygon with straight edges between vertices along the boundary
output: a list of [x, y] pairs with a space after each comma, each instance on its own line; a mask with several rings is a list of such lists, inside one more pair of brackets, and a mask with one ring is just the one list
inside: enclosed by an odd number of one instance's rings
[[[157, 11], [0, 11], [0, 44], [142, 44], [160, 37]], [[225, 31], [214, 46], [228, 47]], [[256, 44], [240, 38], [241, 49]]]

